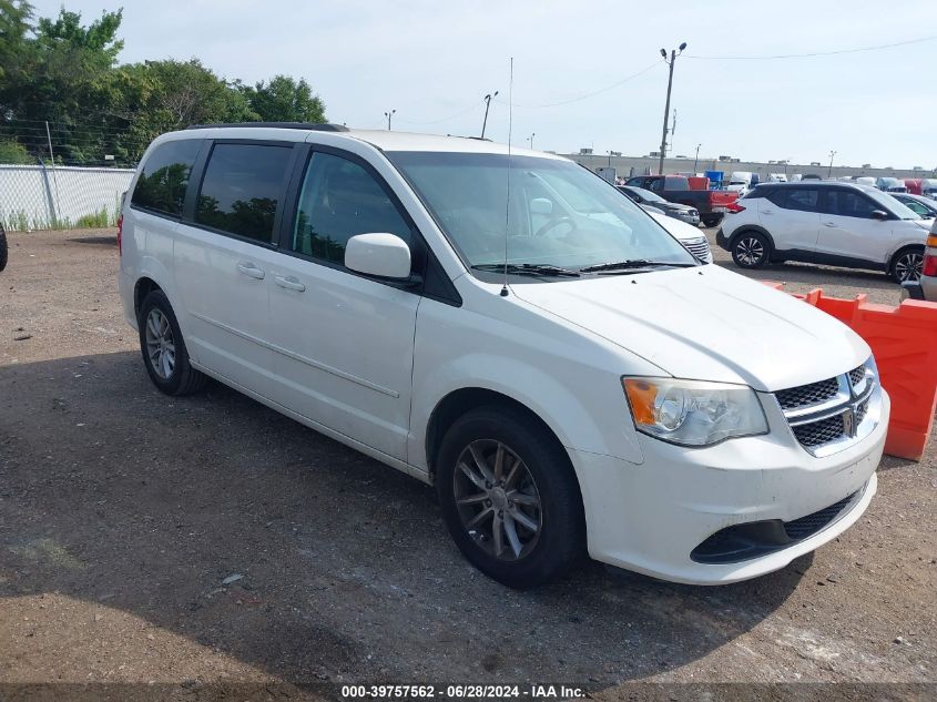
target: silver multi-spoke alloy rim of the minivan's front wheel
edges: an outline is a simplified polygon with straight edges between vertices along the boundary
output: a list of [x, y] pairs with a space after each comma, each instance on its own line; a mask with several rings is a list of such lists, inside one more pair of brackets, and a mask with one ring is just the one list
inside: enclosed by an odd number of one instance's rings
[[469, 444], [459, 455], [452, 489], [462, 527], [489, 556], [516, 561], [537, 546], [543, 529], [540, 492], [509, 446], [493, 439]]

